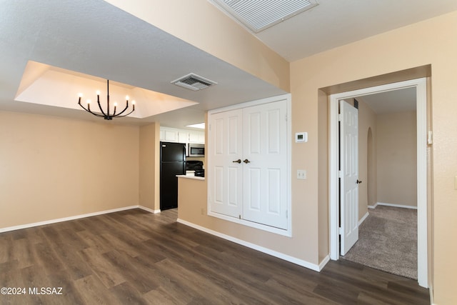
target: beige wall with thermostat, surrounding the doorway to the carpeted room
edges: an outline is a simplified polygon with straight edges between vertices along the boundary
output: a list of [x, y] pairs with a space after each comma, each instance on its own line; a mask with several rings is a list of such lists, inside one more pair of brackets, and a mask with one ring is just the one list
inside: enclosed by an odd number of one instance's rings
[[[301, 224], [294, 224], [293, 231], [304, 230], [298, 245], [306, 245], [303, 254], [311, 257], [317, 251], [316, 236], [318, 221], [325, 221], [316, 213], [318, 190], [318, 160], [326, 156], [320, 151], [316, 137], [321, 123], [318, 116], [318, 90], [331, 88], [333, 93], [345, 84], [360, 89], [361, 86], [376, 85], [358, 80], [414, 67], [431, 65], [431, 104], [433, 119], [433, 204], [434, 217], [432, 258], [433, 294], [436, 304], [452, 304], [457, 299], [453, 288], [453, 264], [456, 246], [450, 243], [457, 234], [457, 191], [453, 189], [453, 176], [457, 174], [457, 137], [449, 132], [457, 130], [457, 104], [453, 102], [453, 91], [457, 84], [457, 12], [429, 19], [418, 24], [405, 26], [385, 34], [356, 41], [353, 44], [310, 56], [291, 64], [291, 92], [293, 96], [293, 131], [306, 130], [310, 141], [306, 146], [293, 145], [292, 172], [308, 169], [305, 184], [293, 181], [293, 211], [301, 216]], [[409, 70], [408, 70], [409, 71]], [[401, 74], [401, 73], [400, 73]], [[403, 74], [402, 74], [403, 75]], [[404, 76], [404, 75], [403, 75]], [[411, 74], [411, 77], [414, 75]], [[422, 75], [426, 76], [426, 75]], [[406, 78], [408, 76], [405, 76]], [[399, 79], [398, 79], [399, 80]], [[390, 80], [392, 81], [392, 80]], [[383, 80], [383, 84], [389, 82]], [[302, 156], [307, 156], [303, 159]], [[298, 206], [298, 209], [297, 209]], [[306, 211], [300, 206], [306, 206]], [[319, 220], [318, 220], [318, 217]], [[294, 219], [295, 220], [295, 219]], [[319, 236], [321, 237], [321, 236]], [[318, 243], [328, 244], [328, 239]]]

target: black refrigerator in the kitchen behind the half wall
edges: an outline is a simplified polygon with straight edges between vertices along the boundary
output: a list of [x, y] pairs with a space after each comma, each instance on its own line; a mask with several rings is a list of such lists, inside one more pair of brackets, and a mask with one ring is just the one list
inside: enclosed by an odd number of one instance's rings
[[186, 174], [186, 144], [160, 142], [160, 209], [178, 207], [178, 178]]

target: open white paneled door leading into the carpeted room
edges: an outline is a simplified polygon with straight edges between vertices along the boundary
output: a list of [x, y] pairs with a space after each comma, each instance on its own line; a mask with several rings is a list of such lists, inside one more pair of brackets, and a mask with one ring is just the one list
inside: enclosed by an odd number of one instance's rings
[[341, 255], [358, 241], [358, 110], [340, 101]]

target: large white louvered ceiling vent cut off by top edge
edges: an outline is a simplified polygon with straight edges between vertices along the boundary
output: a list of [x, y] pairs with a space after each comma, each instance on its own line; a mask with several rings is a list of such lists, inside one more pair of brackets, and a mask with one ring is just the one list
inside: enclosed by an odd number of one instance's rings
[[254, 33], [318, 5], [317, 0], [212, 0]]

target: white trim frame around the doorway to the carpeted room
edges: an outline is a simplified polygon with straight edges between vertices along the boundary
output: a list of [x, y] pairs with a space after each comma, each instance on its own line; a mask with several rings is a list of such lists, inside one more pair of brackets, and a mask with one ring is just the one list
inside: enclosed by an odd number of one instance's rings
[[417, 120], [417, 206], [418, 206], [418, 284], [428, 287], [427, 266], [427, 143], [426, 143], [426, 79], [413, 79], [330, 96], [330, 257], [339, 259], [338, 184], [338, 101], [356, 96], [405, 88], [416, 88]]

